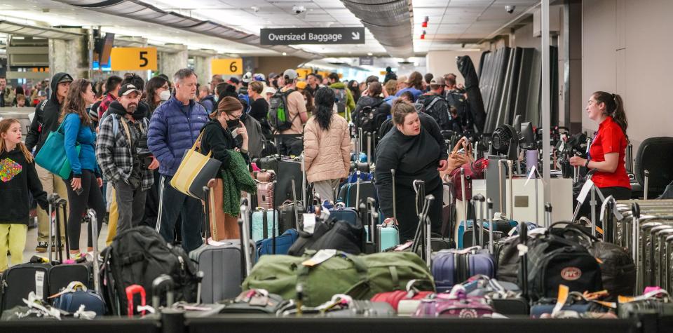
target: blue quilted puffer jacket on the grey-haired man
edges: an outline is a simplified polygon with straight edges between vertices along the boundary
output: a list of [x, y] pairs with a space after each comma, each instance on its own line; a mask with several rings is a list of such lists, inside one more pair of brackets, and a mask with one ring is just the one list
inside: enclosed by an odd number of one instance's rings
[[175, 175], [184, 152], [191, 149], [208, 121], [208, 112], [203, 105], [191, 100], [185, 114], [182, 102], [175, 99], [175, 95], [154, 110], [149, 121], [147, 146], [161, 165], [161, 175]]

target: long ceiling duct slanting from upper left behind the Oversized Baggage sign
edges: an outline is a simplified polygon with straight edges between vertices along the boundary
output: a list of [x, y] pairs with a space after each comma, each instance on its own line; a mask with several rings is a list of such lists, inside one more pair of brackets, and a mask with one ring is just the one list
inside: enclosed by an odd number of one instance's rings
[[[242, 32], [231, 27], [226, 27], [212, 21], [203, 21], [196, 18], [190, 18], [175, 12], [163, 11], [155, 6], [146, 4], [138, 0], [55, 0], [64, 4], [76, 6], [78, 8], [85, 8], [90, 11], [97, 11], [99, 13], [106, 13], [109, 15], [121, 16], [123, 18], [131, 18], [143, 22], [156, 23], [165, 27], [172, 27], [175, 29], [194, 32], [196, 34], [204, 34], [206, 36], [217, 37], [236, 43], [243, 43], [251, 46], [259, 47], [259, 36]], [[264, 47], [266, 49], [274, 50], [278, 53], [287, 53], [287, 55], [294, 55], [295, 57], [302, 57], [305, 59], [319, 59], [322, 55], [309, 53], [304, 50], [292, 48], [290, 46], [270, 46]]]

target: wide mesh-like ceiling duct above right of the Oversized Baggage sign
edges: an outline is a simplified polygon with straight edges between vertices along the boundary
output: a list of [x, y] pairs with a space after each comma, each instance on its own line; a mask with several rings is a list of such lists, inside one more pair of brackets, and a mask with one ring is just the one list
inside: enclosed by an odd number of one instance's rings
[[414, 56], [412, 6], [409, 0], [341, 0], [372, 32], [390, 57]]

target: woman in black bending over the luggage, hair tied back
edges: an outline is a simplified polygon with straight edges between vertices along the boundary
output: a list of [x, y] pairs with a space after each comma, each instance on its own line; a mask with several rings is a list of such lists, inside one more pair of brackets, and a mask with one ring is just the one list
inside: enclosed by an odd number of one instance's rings
[[393, 179], [390, 170], [394, 169], [397, 224], [400, 240], [404, 241], [414, 238], [419, 224], [413, 186], [416, 179], [425, 182], [426, 194], [435, 196], [429, 217], [433, 232], [440, 231], [443, 194], [440, 171], [447, 168], [448, 154], [446, 144], [436, 139], [436, 133], [440, 132], [437, 123], [419, 117], [413, 104], [395, 101], [393, 123], [393, 128], [376, 147], [376, 189], [386, 222], [392, 222]]

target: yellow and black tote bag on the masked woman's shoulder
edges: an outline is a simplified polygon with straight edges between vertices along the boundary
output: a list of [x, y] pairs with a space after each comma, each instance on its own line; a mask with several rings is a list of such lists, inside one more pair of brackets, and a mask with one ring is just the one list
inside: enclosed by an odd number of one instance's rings
[[206, 186], [210, 179], [215, 178], [222, 162], [215, 158], [210, 158], [212, 151], [208, 155], [203, 155], [196, 149], [196, 143], [200, 142], [203, 132], [198, 135], [191, 149], [184, 153], [177, 172], [170, 179], [170, 186], [178, 191], [193, 198], [207, 200], [203, 193], [203, 186]]

